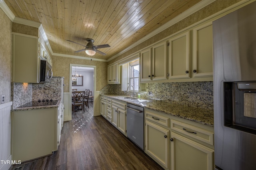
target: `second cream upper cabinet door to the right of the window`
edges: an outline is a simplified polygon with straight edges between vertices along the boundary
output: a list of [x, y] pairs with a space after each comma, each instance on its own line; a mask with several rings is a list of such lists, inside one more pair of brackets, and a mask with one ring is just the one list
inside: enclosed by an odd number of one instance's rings
[[167, 79], [167, 41], [152, 47], [152, 80]]

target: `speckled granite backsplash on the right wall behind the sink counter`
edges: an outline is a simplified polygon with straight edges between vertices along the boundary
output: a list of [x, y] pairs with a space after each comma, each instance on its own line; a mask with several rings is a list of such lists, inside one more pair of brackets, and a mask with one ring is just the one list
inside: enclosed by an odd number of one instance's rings
[[[152, 92], [152, 95], [148, 92]], [[140, 97], [213, 109], [213, 82], [148, 83], [148, 92], [141, 93]], [[100, 94], [132, 96], [132, 92], [126, 94], [121, 91], [121, 84], [108, 84], [100, 90]]]

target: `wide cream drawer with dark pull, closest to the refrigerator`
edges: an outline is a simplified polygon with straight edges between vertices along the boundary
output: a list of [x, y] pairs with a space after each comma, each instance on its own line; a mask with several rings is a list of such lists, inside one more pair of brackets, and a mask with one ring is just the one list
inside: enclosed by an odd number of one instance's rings
[[199, 141], [202, 141], [204, 143], [213, 145], [214, 133], [212, 133], [210, 131], [206, 131], [199, 127], [195, 127], [195, 126], [189, 125], [187, 123], [182, 123], [182, 122], [176, 121], [176, 120], [171, 120], [171, 129], [178, 131], [184, 135], [190, 136]]

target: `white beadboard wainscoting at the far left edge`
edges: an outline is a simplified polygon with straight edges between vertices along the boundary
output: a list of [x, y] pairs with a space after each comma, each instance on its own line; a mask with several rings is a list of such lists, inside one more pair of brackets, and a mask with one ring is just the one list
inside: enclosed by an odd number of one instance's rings
[[8, 170], [12, 165], [11, 106], [12, 102], [0, 104], [0, 170]]

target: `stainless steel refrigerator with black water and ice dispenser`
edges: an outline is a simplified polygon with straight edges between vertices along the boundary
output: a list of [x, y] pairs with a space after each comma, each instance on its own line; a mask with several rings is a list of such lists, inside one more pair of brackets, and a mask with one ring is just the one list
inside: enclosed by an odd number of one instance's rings
[[214, 162], [256, 170], [256, 2], [213, 22]]

